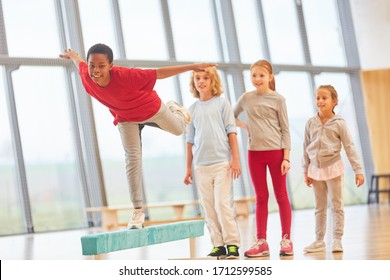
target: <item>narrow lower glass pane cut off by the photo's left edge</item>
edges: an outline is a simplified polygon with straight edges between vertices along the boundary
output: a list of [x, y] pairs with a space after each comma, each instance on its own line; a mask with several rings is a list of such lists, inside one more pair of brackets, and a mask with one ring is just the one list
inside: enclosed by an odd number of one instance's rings
[[26, 232], [17, 186], [3, 70], [0, 67], [0, 235]]

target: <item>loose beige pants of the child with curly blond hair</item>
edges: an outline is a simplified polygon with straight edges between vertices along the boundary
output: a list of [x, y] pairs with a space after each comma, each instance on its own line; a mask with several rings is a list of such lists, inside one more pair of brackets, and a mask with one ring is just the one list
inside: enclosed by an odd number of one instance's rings
[[213, 246], [239, 247], [240, 234], [233, 207], [229, 163], [195, 166], [194, 174]]

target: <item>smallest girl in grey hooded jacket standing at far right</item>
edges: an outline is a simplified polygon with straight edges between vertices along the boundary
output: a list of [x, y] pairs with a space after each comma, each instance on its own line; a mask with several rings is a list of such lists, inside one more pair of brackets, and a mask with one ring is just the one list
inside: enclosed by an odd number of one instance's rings
[[328, 195], [333, 214], [332, 252], [342, 252], [344, 233], [343, 175], [344, 165], [340, 151], [345, 152], [355, 172], [356, 186], [364, 183], [363, 167], [345, 120], [334, 113], [338, 95], [333, 86], [323, 85], [316, 92], [318, 113], [310, 118], [305, 128], [303, 169], [305, 183], [313, 185], [315, 196], [316, 240], [304, 248], [304, 252], [325, 251], [324, 236]]

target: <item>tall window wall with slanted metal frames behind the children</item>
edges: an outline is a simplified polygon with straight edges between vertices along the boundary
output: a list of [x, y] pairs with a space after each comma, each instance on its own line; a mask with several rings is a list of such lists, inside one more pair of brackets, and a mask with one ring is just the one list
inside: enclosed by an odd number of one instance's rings
[[[6, 89], [0, 91], [0, 235], [26, 232], [30, 222], [35, 231], [83, 227], [93, 216], [85, 213], [86, 206], [131, 205], [124, 151], [112, 115], [86, 95], [75, 66], [57, 59], [65, 48], [87, 51], [96, 43], [113, 49], [114, 64], [150, 68], [218, 62], [224, 97], [233, 107], [253, 89], [250, 64], [270, 60], [277, 91], [287, 102], [292, 205], [312, 207], [301, 158], [304, 127], [316, 112], [316, 87], [335, 86], [336, 112], [346, 119], [359, 153], [370, 151], [366, 126], [356, 121], [356, 114], [364, 114], [364, 108], [354, 105], [361, 100], [355, 67], [359, 61], [350, 11], [341, 3], [344, 0], [0, 1], [0, 27], [5, 30], [0, 30], [0, 69], [6, 70], [0, 74], [0, 87]], [[189, 77], [186, 72], [158, 80], [155, 90], [163, 102], [175, 100], [189, 107], [196, 101], [189, 92]], [[13, 114], [17, 118], [10, 118]], [[243, 170], [233, 184], [234, 193], [254, 196], [247, 138], [240, 129], [238, 139]], [[146, 126], [142, 146], [147, 202], [197, 199], [195, 189], [183, 184], [184, 136]], [[343, 159], [345, 203], [363, 203], [364, 189], [356, 190], [344, 153]], [[371, 160], [363, 161], [371, 172]], [[271, 195], [270, 210], [276, 209]], [[160, 210], [150, 210], [150, 218], [173, 217], [168, 208]]]

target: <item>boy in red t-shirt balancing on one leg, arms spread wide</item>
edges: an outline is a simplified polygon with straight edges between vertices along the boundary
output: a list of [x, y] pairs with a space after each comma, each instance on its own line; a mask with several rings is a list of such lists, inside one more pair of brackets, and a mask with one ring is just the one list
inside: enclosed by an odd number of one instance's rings
[[181, 135], [190, 123], [190, 113], [174, 101], [164, 104], [153, 89], [157, 79], [165, 79], [186, 71], [204, 71], [217, 66], [195, 63], [158, 69], [125, 68], [113, 65], [113, 52], [104, 44], [93, 45], [84, 61], [77, 52], [67, 49], [59, 55], [71, 59], [79, 70], [87, 93], [108, 107], [118, 126], [125, 150], [126, 175], [134, 212], [129, 229], [142, 228], [145, 214], [142, 198], [141, 130], [155, 126]]

